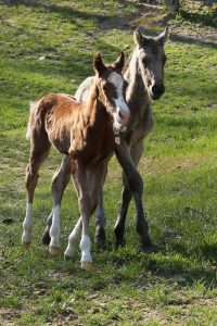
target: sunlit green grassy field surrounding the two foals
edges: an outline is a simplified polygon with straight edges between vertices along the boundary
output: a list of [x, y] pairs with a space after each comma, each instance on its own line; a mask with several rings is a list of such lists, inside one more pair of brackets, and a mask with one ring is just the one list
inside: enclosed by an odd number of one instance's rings
[[[141, 14], [130, 1], [0, 1], [0, 325], [217, 324], [214, 43], [171, 34], [166, 46], [166, 93], [153, 103], [155, 127], [139, 166], [156, 253], [139, 252], [132, 204], [127, 246], [114, 250], [122, 186], [113, 158], [104, 189], [106, 250], [93, 244], [90, 272], [80, 269], [79, 252], [74, 261], [64, 261], [78, 217], [76, 196], [68, 187], [61, 212], [61, 254], [50, 256], [40, 238], [52, 204], [50, 178], [60, 161], [53, 150], [36, 190], [33, 246], [29, 251], [21, 247], [29, 101], [51, 91], [74, 93], [92, 74], [92, 57], [99, 50], [107, 62], [122, 49], [130, 54], [135, 26], [126, 22]], [[182, 10], [171, 24], [202, 34], [217, 26], [210, 8], [196, 14]], [[154, 32], [162, 28], [154, 26]]]

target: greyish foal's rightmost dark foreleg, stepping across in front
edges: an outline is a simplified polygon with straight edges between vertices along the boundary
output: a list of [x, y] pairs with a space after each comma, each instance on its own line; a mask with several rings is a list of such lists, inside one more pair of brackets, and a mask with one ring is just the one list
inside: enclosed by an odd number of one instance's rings
[[[133, 196], [135, 203], [136, 203], [136, 210], [137, 210], [137, 231], [140, 236], [141, 241], [141, 250], [144, 253], [150, 253], [152, 251], [152, 243], [149, 236], [149, 227], [144, 217], [143, 212], [143, 205], [142, 205], [142, 191], [143, 191], [143, 181], [138, 173], [130, 154], [127, 149], [127, 145], [122, 140], [122, 145], [115, 146], [115, 153], [117, 156], [117, 160], [119, 161], [125, 175], [128, 180], [128, 185], [131, 191], [131, 195]], [[130, 201], [128, 197], [128, 202]], [[122, 226], [123, 226], [123, 218], [120, 218], [120, 223], [115, 226], [115, 235], [117, 234], [117, 244], [122, 240]], [[119, 228], [119, 229], [118, 229]], [[117, 233], [116, 233], [117, 229]], [[124, 234], [124, 231], [123, 231]], [[120, 238], [118, 239], [118, 236]]]

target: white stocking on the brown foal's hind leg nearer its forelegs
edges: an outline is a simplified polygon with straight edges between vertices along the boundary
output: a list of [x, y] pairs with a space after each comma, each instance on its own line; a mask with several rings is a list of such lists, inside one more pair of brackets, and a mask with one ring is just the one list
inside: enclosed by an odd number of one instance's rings
[[53, 208], [53, 217], [52, 217], [52, 224], [50, 228], [50, 237], [51, 241], [49, 247], [50, 248], [60, 248], [60, 205], [55, 205]]

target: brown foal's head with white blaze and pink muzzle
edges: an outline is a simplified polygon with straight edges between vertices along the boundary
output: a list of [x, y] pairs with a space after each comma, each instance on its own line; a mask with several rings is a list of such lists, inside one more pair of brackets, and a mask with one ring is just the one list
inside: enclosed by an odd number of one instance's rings
[[93, 61], [99, 97], [107, 112], [113, 115], [116, 131], [120, 130], [129, 120], [129, 108], [126, 103], [127, 82], [122, 75], [124, 65], [123, 52], [110, 66], [104, 65], [101, 53], [98, 53]]

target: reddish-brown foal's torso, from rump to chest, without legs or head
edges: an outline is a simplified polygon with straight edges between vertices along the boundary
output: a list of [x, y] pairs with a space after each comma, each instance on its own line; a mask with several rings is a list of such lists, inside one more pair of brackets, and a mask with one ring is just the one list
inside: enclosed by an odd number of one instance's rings
[[95, 164], [114, 150], [113, 118], [104, 105], [91, 100], [81, 103], [68, 95], [50, 93], [36, 103], [31, 121], [60, 153], [86, 164]]

